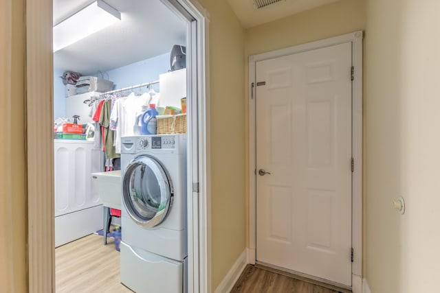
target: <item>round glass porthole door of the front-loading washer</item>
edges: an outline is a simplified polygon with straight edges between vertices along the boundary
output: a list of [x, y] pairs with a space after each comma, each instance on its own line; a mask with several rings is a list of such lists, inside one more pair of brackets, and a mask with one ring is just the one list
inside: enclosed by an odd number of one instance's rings
[[127, 165], [122, 180], [122, 202], [130, 218], [151, 228], [166, 217], [171, 201], [166, 170], [151, 156], [137, 156]]

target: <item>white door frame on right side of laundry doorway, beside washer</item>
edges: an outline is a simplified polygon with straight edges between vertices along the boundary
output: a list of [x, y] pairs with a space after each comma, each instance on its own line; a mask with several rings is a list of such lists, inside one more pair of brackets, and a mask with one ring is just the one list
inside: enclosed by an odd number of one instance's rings
[[[168, 0], [170, 1], [170, 0]], [[188, 91], [197, 97], [197, 103], [188, 101], [188, 107], [197, 111], [188, 121], [188, 150], [192, 150], [192, 161], [188, 161], [188, 292], [210, 292], [210, 134], [209, 77], [208, 77], [208, 12], [197, 0], [177, 1], [195, 21], [188, 27], [188, 44], [195, 60], [188, 62], [195, 71], [187, 71]], [[192, 82], [192, 84], [190, 84]], [[195, 112], [196, 113], [196, 112]], [[192, 183], [199, 183], [199, 193], [192, 192]]]

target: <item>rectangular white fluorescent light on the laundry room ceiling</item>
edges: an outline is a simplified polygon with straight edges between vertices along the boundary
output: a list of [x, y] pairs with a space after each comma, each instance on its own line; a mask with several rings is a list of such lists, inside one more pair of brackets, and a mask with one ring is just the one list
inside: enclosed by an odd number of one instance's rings
[[54, 26], [54, 52], [120, 21], [121, 13], [102, 0], [94, 1]]

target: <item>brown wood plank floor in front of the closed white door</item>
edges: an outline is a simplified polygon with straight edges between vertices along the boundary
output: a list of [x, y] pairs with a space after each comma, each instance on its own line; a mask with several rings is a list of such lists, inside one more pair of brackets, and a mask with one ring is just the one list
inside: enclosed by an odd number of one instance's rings
[[[230, 293], [340, 293], [333, 290], [263, 268], [248, 265]], [[348, 291], [349, 292], [349, 291]]]

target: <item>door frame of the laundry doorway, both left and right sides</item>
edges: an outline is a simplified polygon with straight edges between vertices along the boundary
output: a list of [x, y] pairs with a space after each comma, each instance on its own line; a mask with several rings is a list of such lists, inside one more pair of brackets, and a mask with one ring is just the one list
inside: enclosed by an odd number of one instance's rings
[[[188, 27], [188, 91], [197, 97], [188, 101], [197, 113], [188, 121], [188, 174], [199, 187], [193, 191], [188, 184], [188, 292], [210, 292], [208, 13], [197, 0], [163, 1], [195, 20]], [[52, 0], [25, 5], [28, 285], [29, 292], [55, 292]]]

